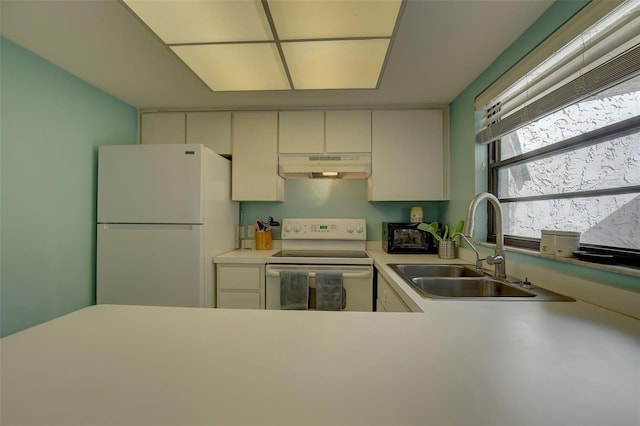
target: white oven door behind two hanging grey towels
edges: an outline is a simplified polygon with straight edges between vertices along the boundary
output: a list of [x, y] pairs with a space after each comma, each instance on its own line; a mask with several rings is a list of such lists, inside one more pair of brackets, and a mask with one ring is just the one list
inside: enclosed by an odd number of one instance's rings
[[316, 272], [342, 274], [344, 311], [373, 311], [373, 267], [359, 265], [278, 265], [267, 264], [266, 308], [280, 309], [280, 272], [302, 271], [309, 274], [309, 307], [315, 307]]

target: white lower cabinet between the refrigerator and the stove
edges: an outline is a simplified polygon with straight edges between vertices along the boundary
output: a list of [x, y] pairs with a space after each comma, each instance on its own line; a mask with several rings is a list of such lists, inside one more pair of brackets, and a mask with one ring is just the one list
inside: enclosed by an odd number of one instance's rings
[[264, 309], [264, 264], [216, 264], [218, 308]]

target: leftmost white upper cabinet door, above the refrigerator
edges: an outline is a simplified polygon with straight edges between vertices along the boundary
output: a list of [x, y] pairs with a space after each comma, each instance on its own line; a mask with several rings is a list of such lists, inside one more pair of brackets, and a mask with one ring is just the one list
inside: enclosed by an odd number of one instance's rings
[[185, 143], [184, 112], [154, 112], [140, 114], [140, 143]]

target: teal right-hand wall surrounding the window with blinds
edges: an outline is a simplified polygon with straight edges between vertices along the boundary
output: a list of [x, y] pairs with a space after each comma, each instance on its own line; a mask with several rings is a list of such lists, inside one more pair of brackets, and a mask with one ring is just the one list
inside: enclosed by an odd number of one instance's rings
[[[556, 1], [525, 33], [505, 50], [482, 74], [480, 74], [450, 105], [451, 111], [451, 201], [443, 211], [445, 221], [453, 222], [464, 217], [471, 198], [487, 189], [487, 148], [475, 143], [474, 99], [503, 73], [515, 65], [558, 27], [571, 18], [589, 1]], [[478, 209], [474, 238], [482, 241], [486, 236], [486, 219]], [[488, 252], [488, 249], [481, 249]], [[640, 279], [630, 275], [610, 273], [535, 256], [509, 253], [514, 261], [553, 269], [584, 279], [640, 291]]]

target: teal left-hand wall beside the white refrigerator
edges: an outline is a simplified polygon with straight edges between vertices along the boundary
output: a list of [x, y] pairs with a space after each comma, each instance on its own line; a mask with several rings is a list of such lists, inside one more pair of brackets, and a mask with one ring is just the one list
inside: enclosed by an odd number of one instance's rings
[[97, 147], [137, 112], [0, 38], [0, 334], [95, 303]]

